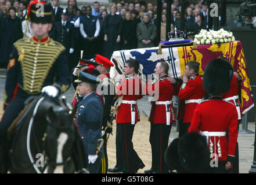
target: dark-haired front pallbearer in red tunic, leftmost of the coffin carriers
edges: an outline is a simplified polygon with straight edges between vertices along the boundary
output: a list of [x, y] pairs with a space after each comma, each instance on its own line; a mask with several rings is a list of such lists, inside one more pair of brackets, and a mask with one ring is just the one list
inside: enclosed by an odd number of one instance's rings
[[117, 164], [109, 168], [109, 172], [136, 173], [145, 167], [134, 150], [132, 135], [135, 124], [139, 121], [137, 100], [141, 99], [141, 82], [137, 75], [139, 62], [134, 59], [125, 61], [124, 72], [127, 77], [117, 86], [117, 96], [123, 96], [118, 107], [116, 123], [116, 158]]

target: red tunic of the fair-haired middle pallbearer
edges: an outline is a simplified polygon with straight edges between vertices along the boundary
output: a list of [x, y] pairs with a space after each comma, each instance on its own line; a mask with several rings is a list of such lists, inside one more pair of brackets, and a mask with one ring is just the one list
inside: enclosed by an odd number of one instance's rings
[[[157, 102], [163, 102], [163, 101], [171, 101], [172, 96], [174, 94], [174, 86], [166, 79], [166, 76], [160, 77], [158, 82], [152, 83], [150, 81], [146, 84], [146, 86], [143, 88], [143, 92], [147, 95], [154, 94], [154, 97], [157, 97], [158, 93], [158, 99]], [[175, 112], [174, 112], [174, 106], [170, 104], [170, 123], [173, 123], [175, 121]], [[153, 101], [149, 121], [153, 122], [153, 124], [166, 124], [166, 108], [165, 105], [156, 105], [156, 102]]]

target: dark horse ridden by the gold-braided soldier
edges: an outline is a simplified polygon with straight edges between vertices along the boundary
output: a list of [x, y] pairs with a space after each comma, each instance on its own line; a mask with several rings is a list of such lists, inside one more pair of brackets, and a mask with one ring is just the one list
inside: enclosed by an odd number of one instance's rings
[[[30, 101], [31, 102], [31, 101]], [[17, 122], [9, 152], [11, 173], [74, 173], [76, 126], [59, 98], [41, 94]]]

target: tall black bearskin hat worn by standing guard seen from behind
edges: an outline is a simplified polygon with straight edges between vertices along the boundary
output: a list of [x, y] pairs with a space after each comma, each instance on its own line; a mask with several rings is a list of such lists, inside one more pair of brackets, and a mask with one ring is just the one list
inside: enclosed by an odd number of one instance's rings
[[210, 95], [221, 95], [228, 92], [233, 76], [233, 67], [226, 58], [211, 60], [203, 75], [203, 87]]

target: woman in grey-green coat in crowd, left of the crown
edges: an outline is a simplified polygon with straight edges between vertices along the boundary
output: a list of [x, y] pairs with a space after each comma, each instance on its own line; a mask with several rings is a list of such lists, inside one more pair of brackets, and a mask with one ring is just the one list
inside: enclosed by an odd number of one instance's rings
[[154, 39], [156, 38], [156, 25], [150, 22], [149, 14], [143, 14], [142, 23], [137, 27], [138, 48], [154, 47]]

